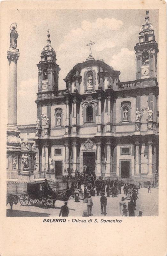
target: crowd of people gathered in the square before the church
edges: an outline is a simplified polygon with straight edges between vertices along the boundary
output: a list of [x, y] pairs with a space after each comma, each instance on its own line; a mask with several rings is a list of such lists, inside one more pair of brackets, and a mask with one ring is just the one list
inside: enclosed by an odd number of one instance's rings
[[[102, 177], [96, 179], [95, 173], [77, 173], [75, 177], [64, 176], [64, 181], [67, 183], [67, 190], [71, 190], [75, 202], [83, 200], [83, 203], [87, 203], [87, 211], [84, 210], [83, 216], [93, 215], [93, 196], [100, 196], [101, 214], [106, 215], [107, 197], [117, 197], [121, 193], [125, 196], [119, 202], [120, 215], [135, 216], [136, 200], [138, 199], [140, 184], [139, 186], [124, 184], [123, 180]], [[71, 183], [70, 188], [69, 183]], [[81, 185], [83, 185], [83, 190], [81, 189]], [[123, 191], [121, 191], [121, 188]], [[139, 211], [138, 216], [142, 216], [141, 211]]]

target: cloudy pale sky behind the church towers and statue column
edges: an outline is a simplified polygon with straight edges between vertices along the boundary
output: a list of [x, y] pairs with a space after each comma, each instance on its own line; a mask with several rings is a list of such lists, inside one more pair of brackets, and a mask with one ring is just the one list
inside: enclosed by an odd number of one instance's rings
[[[35, 124], [36, 93], [41, 52], [47, 42], [49, 28], [51, 46], [56, 51], [59, 90], [65, 89], [64, 78], [79, 62], [86, 60], [91, 40], [92, 55], [121, 72], [121, 82], [135, 80], [134, 46], [139, 42], [146, 10], [11, 10], [8, 29], [17, 23], [17, 124]], [[149, 12], [158, 42], [158, 10]], [[10, 46], [10, 30], [3, 40]], [[7, 49], [6, 49], [7, 50]], [[6, 60], [7, 61], [7, 60]]]

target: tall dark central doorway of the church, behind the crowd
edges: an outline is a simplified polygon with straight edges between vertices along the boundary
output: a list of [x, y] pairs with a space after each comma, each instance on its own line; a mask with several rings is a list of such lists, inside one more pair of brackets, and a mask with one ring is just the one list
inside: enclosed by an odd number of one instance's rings
[[83, 169], [88, 174], [95, 171], [95, 152], [83, 152]]

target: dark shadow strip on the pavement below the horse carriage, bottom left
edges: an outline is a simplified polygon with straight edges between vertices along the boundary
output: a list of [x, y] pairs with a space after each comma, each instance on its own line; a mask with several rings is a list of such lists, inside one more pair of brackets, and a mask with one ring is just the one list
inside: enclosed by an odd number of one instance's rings
[[48, 217], [49, 213], [42, 213], [42, 212], [24, 212], [18, 210], [6, 210], [7, 217]]

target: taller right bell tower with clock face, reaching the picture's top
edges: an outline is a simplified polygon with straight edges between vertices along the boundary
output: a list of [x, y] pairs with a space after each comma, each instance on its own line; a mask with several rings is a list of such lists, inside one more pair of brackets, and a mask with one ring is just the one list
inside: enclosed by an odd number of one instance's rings
[[153, 26], [146, 11], [145, 23], [139, 33], [139, 43], [136, 44], [136, 79], [156, 77], [158, 44], [155, 41]]

